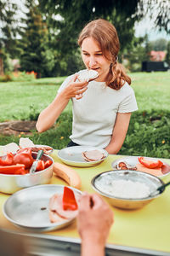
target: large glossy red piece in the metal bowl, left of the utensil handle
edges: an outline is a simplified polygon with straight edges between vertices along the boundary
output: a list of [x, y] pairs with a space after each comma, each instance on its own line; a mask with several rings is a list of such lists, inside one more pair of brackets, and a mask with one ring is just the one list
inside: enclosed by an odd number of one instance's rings
[[27, 168], [30, 168], [34, 159], [30, 153], [20, 153], [14, 155], [14, 164], [23, 164]]

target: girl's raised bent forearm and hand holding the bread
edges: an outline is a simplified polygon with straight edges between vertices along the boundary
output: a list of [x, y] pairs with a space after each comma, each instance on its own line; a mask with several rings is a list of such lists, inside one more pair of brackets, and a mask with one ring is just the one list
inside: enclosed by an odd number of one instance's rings
[[47, 108], [43, 109], [37, 119], [37, 131], [47, 131], [56, 119], [59, 118], [60, 113], [65, 109], [71, 97], [82, 98], [82, 93], [88, 89], [87, 82], [76, 82], [77, 75], [71, 79], [69, 84], [62, 90], [55, 98], [54, 101], [48, 105]]

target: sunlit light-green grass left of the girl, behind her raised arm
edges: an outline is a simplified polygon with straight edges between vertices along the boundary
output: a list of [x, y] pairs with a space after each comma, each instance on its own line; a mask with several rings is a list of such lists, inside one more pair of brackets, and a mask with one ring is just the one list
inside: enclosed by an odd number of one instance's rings
[[35, 79], [32, 81], [0, 83], [0, 121], [29, 119], [40, 113], [54, 99], [65, 78]]

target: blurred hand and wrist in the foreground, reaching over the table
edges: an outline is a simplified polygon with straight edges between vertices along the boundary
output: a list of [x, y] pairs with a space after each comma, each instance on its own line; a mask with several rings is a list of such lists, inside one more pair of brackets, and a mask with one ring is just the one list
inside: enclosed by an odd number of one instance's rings
[[82, 238], [82, 256], [104, 255], [111, 224], [111, 207], [99, 195], [84, 193], [77, 217], [78, 232]]

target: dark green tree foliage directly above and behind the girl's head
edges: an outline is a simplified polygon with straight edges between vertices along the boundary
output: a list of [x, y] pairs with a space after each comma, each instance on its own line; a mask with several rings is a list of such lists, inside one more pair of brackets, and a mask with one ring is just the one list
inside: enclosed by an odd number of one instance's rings
[[[59, 33], [56, 44], [57, 48], [61, 49], [61, 54], [74, 52], [77, 48], [78, 34], [89, 20], [100, 17], [111, 20], [113, 24], [117, 20], [117, 26], [119, 26], [119, 22], [124, 25], [123, 31], [126, 24], [128, 24], [128, 29], [129, 24], [131, 24], [130, 27], [133, 27], [135, 21], [135, 15], [133, 14], [136, 13], [138, 8], [137, 0], [127, 0], [125, 4], [122, 4], [124, 3], [123, 0], [105, 0], [105, 2], [101, 0], [39, 0], [39, 3], [43, 14], [60, 15], [63, 18], [57, 21]], [[131, 20], [128, 20], [129, 17], [131, 17]], [[54, 23], [55, 25], [56, 23]]]

